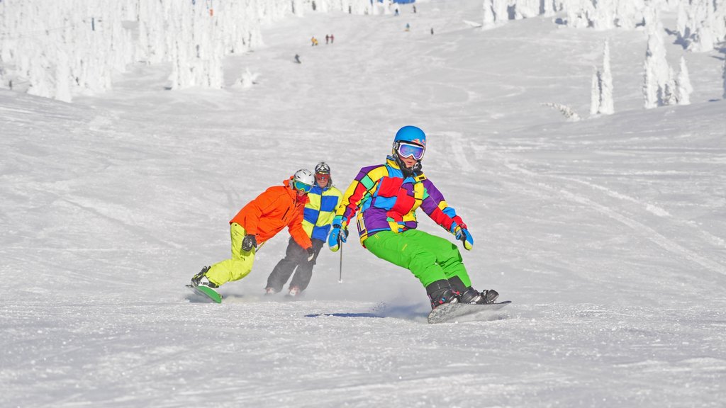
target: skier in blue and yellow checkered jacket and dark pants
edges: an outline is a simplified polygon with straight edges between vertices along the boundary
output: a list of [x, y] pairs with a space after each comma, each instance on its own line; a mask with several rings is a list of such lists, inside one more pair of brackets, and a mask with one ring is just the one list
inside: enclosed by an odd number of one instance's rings
[[265, 288], [267, 294], [280, 292], [293, 272], [295, 275], [290, 281], [288, 295], [299, 295], [308, 287], [313, 275], [313, 266], [325, 245], [327, 233], [330, 232], [330, 223], [335, 216], [335, 208], [338, 207], [342, 196], [343, 193], [333, 186], [333, 180], [330, 179], [330, 166], [325, 162], [318, 163], [315, 166], [315, 185], [308, 193], [309, 203], [305, 205], [303, 217], [303, 229], [310, 237], [315, 254], [309, 258], [306, 250], [290, 238], [285, 258], [280, 259], [267, 278]]

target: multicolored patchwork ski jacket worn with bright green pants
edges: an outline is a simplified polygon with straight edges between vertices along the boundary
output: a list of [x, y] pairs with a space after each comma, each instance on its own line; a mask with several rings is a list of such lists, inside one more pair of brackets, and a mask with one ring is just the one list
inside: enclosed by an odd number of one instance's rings
[[358, 233], [365, 246], [365, 240], [376, 232], [415, 229], [419, 207], [449, 232], [464, 224], [431, 180], [423, 173], [404, 178], [393, 157], [388, 156], [386, 164], [361, 169], [343, 194], [335, 221], [345, 228], [359, 212]]

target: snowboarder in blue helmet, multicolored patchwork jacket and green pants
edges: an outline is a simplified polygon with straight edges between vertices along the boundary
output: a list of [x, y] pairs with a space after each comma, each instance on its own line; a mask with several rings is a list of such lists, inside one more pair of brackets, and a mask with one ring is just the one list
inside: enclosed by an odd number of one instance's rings
[[335, 211], [328, 246], [335, 252], [348, 236], [348, 224], [358, 213], [361, 244], [373, 255], [409, 269], [425, 287], [431, 308], [444, 303], [493, 303], [496, 290], [479, 292], [456, 245], [416, 229], [417, 208], [471, 250], [474, 240], [454, 208], [421, 171], [426, 135], [404, 126], [393, 138], [386, 163], [364, 167], [343, 194]]

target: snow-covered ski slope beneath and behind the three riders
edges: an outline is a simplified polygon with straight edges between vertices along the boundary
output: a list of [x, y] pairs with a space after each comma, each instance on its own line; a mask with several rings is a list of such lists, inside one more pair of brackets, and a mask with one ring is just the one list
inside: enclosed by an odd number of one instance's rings
[[[692, 105], [645, 110], [642, 31], [463, 23], [481, 12], [290, 17], [223, 90], [145, 65], [73, 104], [0, 90], [0, 406], [721, 406], [722, 54], [685, 54]], [[605, 38], [615, 114], [587, 118]], [[304, 298], [264, 297], [284, 232], [221, 305], [187, 293], [248, 200], [319, 160], [345, 188], [406, 124], [473, 233], [474, 285], [512, 305], [427, 325], [419, 283], [355, 239], [342, 284], [325, 250]]]

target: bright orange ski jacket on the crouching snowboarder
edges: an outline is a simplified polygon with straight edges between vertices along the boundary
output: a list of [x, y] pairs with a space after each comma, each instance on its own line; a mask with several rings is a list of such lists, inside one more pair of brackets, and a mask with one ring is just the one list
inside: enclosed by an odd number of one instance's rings
[[236, 222], [247, 234], [255, 235], [257, 245], [274, 237], [287, 226], [290, 236], [298, 245], [305, 249], [311, 248], [312, 242], [302, 224], [303, 209], [309, 199], [306, 196], [305, 200], [297, 200], [297, 192], [290, 188], [290, 179], [282, 181], [282, 186], [266, 189], [245, 205], [229, 224]]

